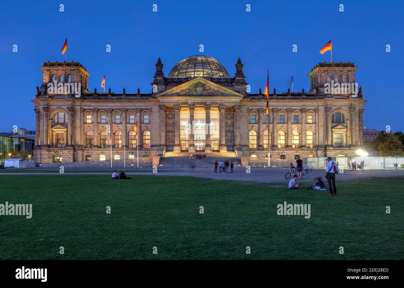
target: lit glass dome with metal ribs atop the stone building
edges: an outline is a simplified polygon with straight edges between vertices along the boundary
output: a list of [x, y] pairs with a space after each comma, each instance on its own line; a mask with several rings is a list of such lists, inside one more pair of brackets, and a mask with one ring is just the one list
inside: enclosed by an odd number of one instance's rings
[[167, 78], [185, 77], [230, 78], [230, 75], [215, 58], [194, 55], [178, 62], [167, 76]]

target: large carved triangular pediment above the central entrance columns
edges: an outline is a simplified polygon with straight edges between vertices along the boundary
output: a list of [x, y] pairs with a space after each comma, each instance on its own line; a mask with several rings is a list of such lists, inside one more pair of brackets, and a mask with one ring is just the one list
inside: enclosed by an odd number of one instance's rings
[[161, 92], [157, 97], [161, 96], [236, 96], [243, 97], [238, 92], [225, 88], [219, 84], [213, 83], [205, 78], [197, 77], [167, 91]]

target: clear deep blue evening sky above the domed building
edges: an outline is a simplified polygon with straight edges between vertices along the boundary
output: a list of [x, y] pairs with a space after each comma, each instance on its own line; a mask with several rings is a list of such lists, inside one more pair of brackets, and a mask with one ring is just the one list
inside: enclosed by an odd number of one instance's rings
[[[59, 12], [59, 4], [65, 12]], [[246, 4], [251, 12], [246, 12]], [[344, 12], [339, 12], [339, 4]], [[158, 12], [152, 5], [158, 4]], [[195, 54], [215, 57], [231, 76], [240, 56], [251, 92], [265, 87], [309, 90], [310, 69], [330, 61], [319, 53], [332, 37], [334, 62], [358, 66], [363, 86], [363, 124], [393, 132], [403, 121], [403, 1], [4, 1], [0, 2], [0, 132], [13, 125], [34, 129], [35, 86], [47, 61], [64, 61], [61, 47], [68, 38], [68, 61], [78, 61], [91, 74], [89, 88], [103, 74], [106, 86], [128, 93], [149, 92], [157, 58], [164, 75]], [[13, 44], [18, 52], [13, 53]], [[105, 45], [111, 44], [111, 53]], [[199, 45], [204, 44], [204, 53]], [[292, 53], [292, 45], [298, 52]], [[391, 52], [385, 52], [386, 44]]]

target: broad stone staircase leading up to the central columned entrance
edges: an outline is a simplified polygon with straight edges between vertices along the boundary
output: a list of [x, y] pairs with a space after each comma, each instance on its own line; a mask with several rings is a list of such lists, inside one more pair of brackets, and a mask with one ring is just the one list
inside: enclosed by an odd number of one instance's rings
[[[206, 159], [189, 159], [191, 154], [206, 154]], [[229, 151], [226, 153], [189, 153], [189, 152], [166, 152], [164, 158], [160, 160], [159, 166], [166, 168], [214, 168], [215, 161], [229, 160], [235, 166], [241, 165], [240, 159], [236, 157], [236, 153]]]

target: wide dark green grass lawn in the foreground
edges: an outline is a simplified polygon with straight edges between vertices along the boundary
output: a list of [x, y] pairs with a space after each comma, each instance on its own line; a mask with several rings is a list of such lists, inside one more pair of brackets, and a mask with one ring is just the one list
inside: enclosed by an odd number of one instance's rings
[[[0, 259], [404, 258], [402, 177], [337, 181], [335, 197], [287, 182], [132, 177], [0, 176], [0, 204], [33, 211], [0, 216]], [[278, 216], [284, 201], [311, 204], [311, 218]]]

